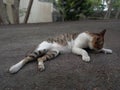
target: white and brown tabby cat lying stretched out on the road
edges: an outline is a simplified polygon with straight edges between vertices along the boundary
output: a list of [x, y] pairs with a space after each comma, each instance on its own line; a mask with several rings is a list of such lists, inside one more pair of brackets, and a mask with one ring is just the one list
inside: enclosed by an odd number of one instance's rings
[[17, 64], [10, 67], [10, 73], [18, 72], [26, 63], [37, 60], [38, 69], [40, 71], [45, 70], [44, 62], [46, 60], [55, 58], [60, 53], [74, 53], [81, 55], [82, 60], [89, 62], [90, 56], [84, 48], [89, 48], [97, 52], [112, 53], [111, 49], [105, 49], [104, 35], [106, 29], [99, 33], [91, 33], [88, 31], [82, 33], [67, 33], [57, 36], [55, 38], [49, 38], [38, 45], [38, 47], [24, 59]]

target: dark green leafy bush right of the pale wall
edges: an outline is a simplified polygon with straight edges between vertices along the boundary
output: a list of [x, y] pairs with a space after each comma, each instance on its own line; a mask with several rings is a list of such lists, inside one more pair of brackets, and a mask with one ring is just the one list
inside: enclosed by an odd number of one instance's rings
[[63, 20], [78, 20], [93, 13], [93, 1], [91, 0], [57, 0], [56, 6]]

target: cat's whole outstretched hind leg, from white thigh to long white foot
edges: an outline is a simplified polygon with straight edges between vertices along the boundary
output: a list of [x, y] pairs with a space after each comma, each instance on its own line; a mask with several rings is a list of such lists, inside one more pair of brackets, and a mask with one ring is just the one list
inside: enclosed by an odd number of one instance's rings
[[24, 59], [22, 59], [17, 64], [10, 67], [9, 72], [10, 73], [16, 73], [18, 72], [26, 63], [36, 60], [38, 57], [43, 56], [47, 50], [51, 48], [51, 43], [48, 43], [47, 41], [43, 41], [38, 45], [38, 47], [35, 49], [33, 53], [30, 55], [27, 55]]

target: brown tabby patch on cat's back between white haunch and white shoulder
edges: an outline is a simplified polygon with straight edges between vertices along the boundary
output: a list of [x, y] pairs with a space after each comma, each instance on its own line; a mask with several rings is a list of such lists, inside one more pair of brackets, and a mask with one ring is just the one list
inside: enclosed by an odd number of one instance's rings
[[78, 36], [78, 34], [79, 33], [73, 33], [73, 34], [66, 33], [66, 34], [57, 36], [55, 38], [49, 38], [47, 41], [50, 43], [56, 42], [60, 45], [65, 46], [68, 44], [68, 41], [71, 41], [72, 39], [74, 40]]

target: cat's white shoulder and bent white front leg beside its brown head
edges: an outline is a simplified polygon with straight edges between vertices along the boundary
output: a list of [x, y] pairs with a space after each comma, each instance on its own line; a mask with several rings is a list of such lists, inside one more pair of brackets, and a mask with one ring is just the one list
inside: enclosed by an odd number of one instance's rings
[[82, 55], [82, 59], [84, 61], [90, 61], [90, 57], [88, 55], [88, 53], [83, 49], [83, 48], [87, 48], [91, 46], [89, 46], [90, 41], [92, 40], [92, 37], [89, 36], [86, 33], [81, 33], [74, 42], [73, 48], [72, 48], [72, 52], [77, 54], [77, 55]]

